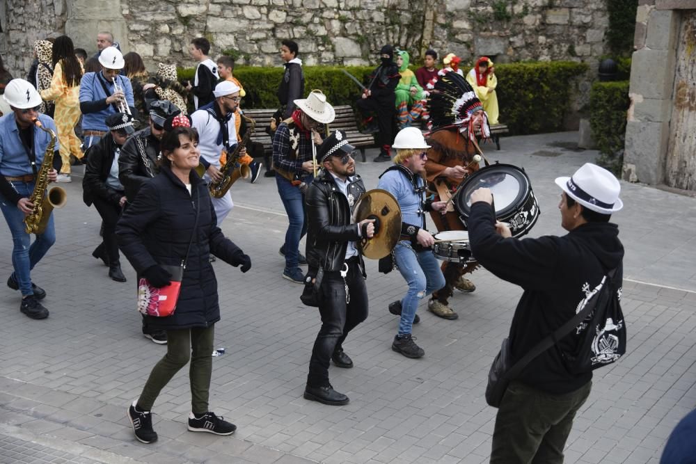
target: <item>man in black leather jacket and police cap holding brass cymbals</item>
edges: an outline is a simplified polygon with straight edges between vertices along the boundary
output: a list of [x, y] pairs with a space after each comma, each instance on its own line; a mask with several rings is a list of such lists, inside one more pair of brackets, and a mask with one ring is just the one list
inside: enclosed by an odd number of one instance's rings
[[326, 138], [317, 154], [323, 169], [306, 197], [308, 279], [311, 283], [316, 275], [322, 328], [312, 350], [304, 397], [332, 406], [349, 399], [329, 383], [329, 359], [336, 367], [353, 367], [342, 344], [349, 331], [367, 318], [365, 264], [355, 242], [374, 235], [372, 219], [351, 223], [354, 205], [365, 193], [355, 173], [353, 150], [343, 131]]

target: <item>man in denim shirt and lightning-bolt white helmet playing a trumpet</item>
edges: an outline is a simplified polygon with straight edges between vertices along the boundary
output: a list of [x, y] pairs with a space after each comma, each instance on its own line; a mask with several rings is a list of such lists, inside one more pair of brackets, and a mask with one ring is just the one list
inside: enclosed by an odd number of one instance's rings
[[99, 63], [102, 65], [100, 72], [86, 72], [80, 81], [84, 150], [109, 133], [106, 127], [109, 115], [125, 113], [126, 109], [135, 117], [138, 115], [130, 79], [120, 74], [125, 66], [120, 50], [106, 47], [101, 51]]

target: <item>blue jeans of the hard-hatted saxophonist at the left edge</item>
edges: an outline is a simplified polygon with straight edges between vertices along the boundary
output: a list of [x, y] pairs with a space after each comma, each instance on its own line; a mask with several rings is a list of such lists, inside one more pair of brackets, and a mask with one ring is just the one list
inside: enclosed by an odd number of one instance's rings
[[[20, 195], [30, 197], [34, 190], [33, 182], [10, 182]], [[46, 230], [38, 234], [34, 243], [31, 236], [24, 232], [24, 213], [19, 211], [17, 205], [0, 195], [0, 209], [5, 216], [5, 221], [10, 229], [13, 240], [12, 265], [15, 268], [15, 280], [19, 285], [22, 295], [33, 295], [31, 289], [31, 269], [41, 260], [49, 248], [56, 241], [56, 230], [53, 223], [53, 214], [49, 217]], [[31, 243], [31, 246], [30, 246]]]

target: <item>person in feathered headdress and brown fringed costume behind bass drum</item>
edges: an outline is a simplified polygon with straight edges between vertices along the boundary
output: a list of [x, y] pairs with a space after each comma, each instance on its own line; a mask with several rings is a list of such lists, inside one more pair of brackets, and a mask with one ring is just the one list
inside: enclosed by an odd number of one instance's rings
[[[468, 175], [479, 169], [478, 163], [473, 162], [476, 149], [472, 141], [473, 121], [471, 116], [482, 111], [483, 107], [471, 86], [456, 72], [441, 70], [438, 72], [437, 78], [428, 84], [428, 88], [430, 95], [427, 103], [431, 118], [429, 124], [432, 131], [427, 136], [427, 144], [431, 148], [427, 152], [428, 161], [425, 163], [425, 173], [429, 186], [438, 196], [436, 200], [448, 200], [448, 198], [441, 198], [438, 191], [446, 189], [450, 193], [454, 193], [457, 186], [464, 182]], [[486, 138], [488, 135], [489, 127], [484, 118], [482, 136]], [[466, 168], [467, 173], [463, 179], [454, 179], [443, 175], [446, 168], [454, 166]], [[466, 230], [459, 219], [459, 214], [453, 209], [450, 205], [444, 216], [437, 211], [431, 212], [430, 216], [438, 232]], [[446, 306], [461, 276], [474, 271], [477, 266], [476, 262], [466, 264], [444, 262], [442, 271], [445, 275], [446, 285], [433, 292], [433, 299]]]

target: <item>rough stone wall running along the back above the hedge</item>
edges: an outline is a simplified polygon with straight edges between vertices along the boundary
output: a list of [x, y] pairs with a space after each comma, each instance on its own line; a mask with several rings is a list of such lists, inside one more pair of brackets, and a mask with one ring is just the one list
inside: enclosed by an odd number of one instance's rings
[[248, 65], [280, 65], [280, 40], [292, 38], [307, 65], [374, 63], [389, 42], [416, 60], [434, 47], [465, 66], [487, 54], [503, 63], [573, 60], [596, 69], [606, 52], [605, 1], [0, 0], [8, 18], [0, 18], [0, 51], [11, 70], [26, 70], [36, 38], [68, 33], [92, 53], [97, 31], [106, 29], [151, 69], [157, 61], [193, 65], [187, 48], [200, 35], [211, 40], [212, 56], [225, 52]]

